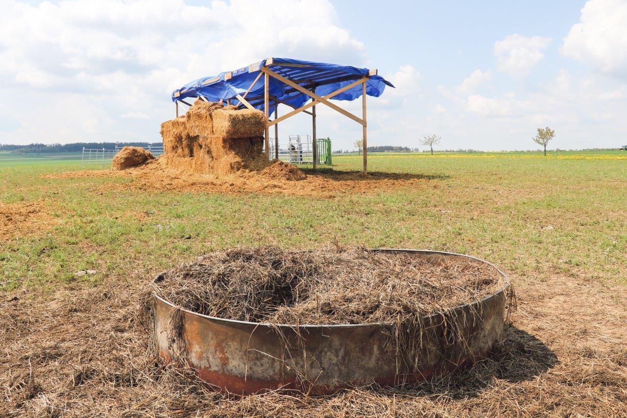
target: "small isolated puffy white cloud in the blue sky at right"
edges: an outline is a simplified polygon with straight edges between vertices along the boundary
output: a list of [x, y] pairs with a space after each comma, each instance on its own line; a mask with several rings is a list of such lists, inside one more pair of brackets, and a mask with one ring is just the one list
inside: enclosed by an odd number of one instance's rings
[[517, 33], [505, 36], [505, 39], [494, 44], [498, 70], [512, 77], [526, 77], [542, 61], [542, 51], [550, 43], [551, 38], [542, 36], [522, 36]]

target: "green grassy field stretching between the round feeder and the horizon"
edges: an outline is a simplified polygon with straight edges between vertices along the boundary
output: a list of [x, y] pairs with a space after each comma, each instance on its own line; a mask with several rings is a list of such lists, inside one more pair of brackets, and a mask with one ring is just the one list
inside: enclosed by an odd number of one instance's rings
[[[0, 154], [0, 202], [41, 201], [58, 223], [0, 241], [5, 289], [149, 279], [215, 249], [331, 241], [472, 254], [534, 280], [627, 282], [624, 152], [370, 154], [369, 171], [436, 180], [330, 199], [119, 191], [112, 183], [129, 180], [42, 177], [80, 169], [80, 159], [10, 158]], [[334, 169], [361, 161], [334, 156]], [[98, 273], [75, 278], [85, 269]]]

